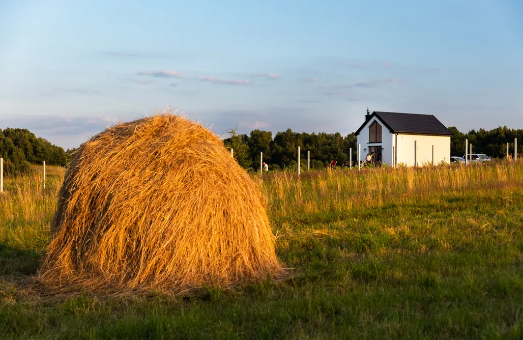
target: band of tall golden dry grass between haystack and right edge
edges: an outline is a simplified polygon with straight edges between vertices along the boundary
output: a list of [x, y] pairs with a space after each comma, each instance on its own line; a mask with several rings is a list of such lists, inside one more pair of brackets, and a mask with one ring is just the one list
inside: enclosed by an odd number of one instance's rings
[[[521, 185], [523, 162], [491, 162], [470, 166], [372, 168], [281, 173], [255, 177], [272, 217], [303, 212], [343, 212], [354, 208], [423, 201], [435, 190], [456, 192], [488, 185]], [[413, 195], [416, 194], [416, 195]]]

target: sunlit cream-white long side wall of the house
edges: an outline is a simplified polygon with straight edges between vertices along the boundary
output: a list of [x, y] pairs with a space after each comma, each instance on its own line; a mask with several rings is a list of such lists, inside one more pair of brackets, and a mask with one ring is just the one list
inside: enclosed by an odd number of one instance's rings
[[[418, 165], [432, 164], [432, 146], [434, 145], [434, 164], [441, 161], [450, 163], [450, 136], [430, 136], [414, 134], [397, 135], [397, 164], [414, 165], [414, 141], [417, 141]], [[394, 135], [394, 144], [396, 136]]]

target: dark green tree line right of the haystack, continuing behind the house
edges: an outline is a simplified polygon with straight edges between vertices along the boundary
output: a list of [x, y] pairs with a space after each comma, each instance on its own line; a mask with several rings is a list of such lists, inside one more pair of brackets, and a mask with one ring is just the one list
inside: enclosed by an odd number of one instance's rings
[[[484, 153], [493, 158], [506, 156], [506, 143], [509, 143], [510, 153], [514, 150], [514, 138], [519, 145], [523, 144], [523, 129], [514, 130], [498, 127], [487, 131], [485, 129], [460, 132], [456, 127], [450, 127], [453, 133], [450, 138], [451, 156], [462, 156], [465, 153], [465, 139], [473, 146], [473, 153]], [[332, 161], [343, 164], [349, 160], [352, 148], [352, 160], [357, 160], [357, 136], [353, 133], [342, 135], [337, 133], [306, 133], [293, 132], [291, 129], [280, 131], [272, 138], [271, 131], [253, 130], [250, 134], [236, 134], [235, 129], [229, 130], [230, 137], [224, 140], [226, 148], [234, 149], [234, 158], [245, 169], [260, 168], [260, 153], [269, 168], [279, 170], [293, 168], [298, 164], [298, 146], [300, 146], [301, 166], [306, 167], [307, 151], [310, 151], [311, 167], [324, 168]], [[518, 146], [518, 152], [521, 152]], [[363, 157], [363, 156], [362, 156]]]

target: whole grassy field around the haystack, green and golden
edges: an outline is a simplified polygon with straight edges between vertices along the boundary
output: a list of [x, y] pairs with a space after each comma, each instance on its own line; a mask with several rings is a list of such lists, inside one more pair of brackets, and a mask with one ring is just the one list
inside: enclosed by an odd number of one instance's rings
[[42, 298], [63, 169], [7, 178], [0, 338], [523, 338], [523, 163], [259, 179], [292, 274], [168, 298]]

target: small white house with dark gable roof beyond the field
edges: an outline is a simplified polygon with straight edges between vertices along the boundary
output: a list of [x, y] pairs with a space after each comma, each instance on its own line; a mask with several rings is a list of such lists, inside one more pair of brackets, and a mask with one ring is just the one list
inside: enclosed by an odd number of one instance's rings
[[[372, 161], [381, 157], [382, 163], [414, 165], [450, 163], [450, 136], [447, 129], [433, 115], [403, 114], [374, 111], [365, 116], [365, 123], [356, 131], [361, 144], [361, 159], [373, 153]], [[414, 145], [417, 152], [415, 155]], [[434, 148], [433, 148], [434, 147]]]

